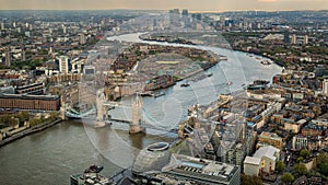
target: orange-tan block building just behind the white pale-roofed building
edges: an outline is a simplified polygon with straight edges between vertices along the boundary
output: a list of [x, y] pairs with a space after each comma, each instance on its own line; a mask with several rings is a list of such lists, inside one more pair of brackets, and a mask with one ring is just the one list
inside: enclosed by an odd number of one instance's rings
[[279, 150], [282, 150], [283, 141], [277, 134], [262, 131], [260, 136], [258, 136], [258, 143], [256, 144], [256, 148], [258, 149], [262, 146], [273, 146]]

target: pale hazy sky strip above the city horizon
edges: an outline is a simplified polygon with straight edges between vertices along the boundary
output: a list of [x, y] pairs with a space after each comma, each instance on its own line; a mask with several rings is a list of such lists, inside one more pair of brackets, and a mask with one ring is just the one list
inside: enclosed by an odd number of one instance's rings
[[328, 10], [328, 0], [0, 0], [0, 10]]

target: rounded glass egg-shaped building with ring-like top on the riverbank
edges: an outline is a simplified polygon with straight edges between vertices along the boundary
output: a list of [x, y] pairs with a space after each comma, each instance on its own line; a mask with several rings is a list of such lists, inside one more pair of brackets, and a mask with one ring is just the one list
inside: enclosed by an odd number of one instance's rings
[[169, 162], [171, 152], [168, 149], [169, 143], [157, 142], [141, 150], [133, 162], [132, 172], [140, 174], [150, 171], [161, 171]]

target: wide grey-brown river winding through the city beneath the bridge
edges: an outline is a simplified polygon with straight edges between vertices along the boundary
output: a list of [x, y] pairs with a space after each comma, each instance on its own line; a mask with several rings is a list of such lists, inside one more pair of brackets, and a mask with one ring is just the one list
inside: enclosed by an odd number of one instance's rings
[[[140, 42], [138, 35], [129, 34], [109, 39]], [[281, 71], [280, 67], [263, 66], [245, 53], [192, 47], [227, 56], [227, 61], [221, 61], [206, 71], [212, 72], [212, 77], [190, 82], [188, 88], [181, 88], [183, 82], [179, 82], [163, 90], [164, 96], [144, 97], [144, 114], [153, 120], [154, 126], [174, 128], [179, 120], [186, 119], [186, 108], [189, 105], [208, 104], [220, 93], [239, 90], [242, 84], [254, 80], [271, 80], [273, 74]], [[233, 84], [227, 85], [227, 81]], [[122, 99], [121, 104], [130, 104], [130, 99]], [[130, 119], [130, 108], [115, 108], [110, 114], [114, 118]], [[129, 136], [127, 131], [109, 127], [95, 129], [84, 127], [79, 122], [63, 122], [0, 148], [0, 184], [69, 184], [71, 174], [81, 173], [91, 164], [104, 165], [102, 173], [112, 176], [122, 167], [130, 166], [140, 149], [153, 142], [174, 140], [174, 137], [165, 132], [151, 134]]]

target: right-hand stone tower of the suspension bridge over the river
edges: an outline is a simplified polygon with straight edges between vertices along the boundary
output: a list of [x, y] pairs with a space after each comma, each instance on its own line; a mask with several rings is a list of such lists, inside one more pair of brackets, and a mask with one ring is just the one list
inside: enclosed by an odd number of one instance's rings
[[136, 99], [132, 100], [132, 123], [130, 125], [129, 134], [142, 132], [141, 128], [141, 114], [142, 114], [142, 99], [137, 94]]

